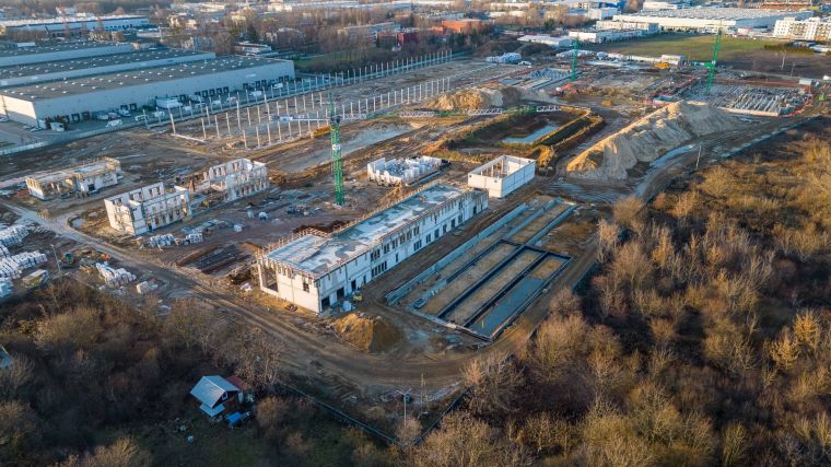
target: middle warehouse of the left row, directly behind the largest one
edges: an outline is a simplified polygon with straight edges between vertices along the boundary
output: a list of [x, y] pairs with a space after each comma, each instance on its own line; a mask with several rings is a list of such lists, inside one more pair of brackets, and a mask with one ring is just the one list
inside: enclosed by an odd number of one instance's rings
[[215, 54], [183, 49], [153, 49], [117, 54], [104, 57], [73, 58], [30, 63], [16, 67], [0, 67], [0, 87], [35, 84], [46, 81], [92, 77], [142, 68], [164, 67], [189, 61], [204, 61], [215, 58]]

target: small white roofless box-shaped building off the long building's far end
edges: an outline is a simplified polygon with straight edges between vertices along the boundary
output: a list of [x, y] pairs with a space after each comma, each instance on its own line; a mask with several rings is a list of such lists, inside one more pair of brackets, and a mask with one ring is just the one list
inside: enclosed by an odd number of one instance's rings
[[534, 178], [537, 161], [501, 155], [468, 173], [468, 186], [488, 190], [491, 198], [504, 198]]

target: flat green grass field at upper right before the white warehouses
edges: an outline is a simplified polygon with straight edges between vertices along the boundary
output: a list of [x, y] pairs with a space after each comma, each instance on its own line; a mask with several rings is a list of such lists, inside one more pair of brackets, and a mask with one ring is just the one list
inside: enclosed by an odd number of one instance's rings
[[[730, 61], [753, 51], [771, 51], [786, 42], [724, 36], [718, 61]], [[592, 50], [659, 57], [663, 54], [683, 55], [688, 60], [706, 61], [713, 57], [715, 35], [662, 34], [643, 39], [588, 46]], [[765, 49], [768, 47], [768, 49]]]

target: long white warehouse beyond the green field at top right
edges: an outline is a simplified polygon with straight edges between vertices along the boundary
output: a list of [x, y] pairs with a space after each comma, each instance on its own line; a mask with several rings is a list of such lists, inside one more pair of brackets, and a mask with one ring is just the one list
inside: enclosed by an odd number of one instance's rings
[[770, 28], [779, 20], [810, 17], [810, 11], [762, 10], [750, 8], [687, 8], [616, 14], [615, 21], [656, 23], [663, 31], [717, 31], [739, 27]]

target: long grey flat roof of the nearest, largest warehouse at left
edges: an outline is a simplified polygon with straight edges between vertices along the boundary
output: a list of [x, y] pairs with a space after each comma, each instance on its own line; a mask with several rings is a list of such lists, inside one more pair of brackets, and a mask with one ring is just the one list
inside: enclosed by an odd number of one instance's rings
[[[52, 81], [40, 84], [25, 84], [0, 90], [0, 94], [23, 101], [38, 98], [66, 97], [89, 94], [106, 90], [137, 86], [148, 83], [163, 83], [230, 70], [286, 63], [289, 60], [276, 58], [231, 56], [210, 60], [189, 61], [164, 67], [151, 67], [142, 70], [119, 71], [97, 77], [75, 78], [67, 81]], [[163, 94], [160, 90], [160, 94]]]

